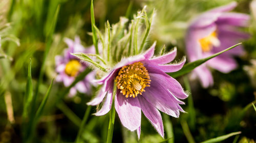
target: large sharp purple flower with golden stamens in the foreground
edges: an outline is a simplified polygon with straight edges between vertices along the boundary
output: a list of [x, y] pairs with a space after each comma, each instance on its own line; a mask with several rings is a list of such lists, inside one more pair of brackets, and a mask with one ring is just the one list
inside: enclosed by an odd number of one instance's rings
[[[141, 110], [150, 120], [157, 132], [163, 136], [162, 111], [167, 115], [178, 118], [180, 111], [184, 112], [179, 104], [180, 99], [187, 98], [180, 83], [165, 72], [180, 70], [185, 59], [176, 64], [165, 65], [175, 59], [176, 48], [167, 54], [152, 58], [156, 43], [146, 52], [130, 58], [122, 59], [105, 77], [97, 80], [103, 84], [98, 96], [88, 105], [104, 103], [95, 115], [102, 116], [111, 109], [112, 99], [115, 96], [115, 109], [121, 123], [127, 129], [137, 129], [140, 136]], [[113, 95], [113, 85], [117, 91]]]

